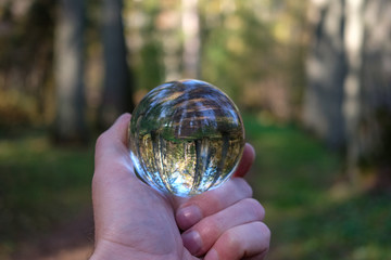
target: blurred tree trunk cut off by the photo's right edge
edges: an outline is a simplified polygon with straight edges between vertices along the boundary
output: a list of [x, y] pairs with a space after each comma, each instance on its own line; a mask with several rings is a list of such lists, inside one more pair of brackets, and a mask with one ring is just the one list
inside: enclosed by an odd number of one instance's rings
[[361, 156], [375, 162], [375, 188], [391, 187], [391, 2], [367, 0], [360, 125]]

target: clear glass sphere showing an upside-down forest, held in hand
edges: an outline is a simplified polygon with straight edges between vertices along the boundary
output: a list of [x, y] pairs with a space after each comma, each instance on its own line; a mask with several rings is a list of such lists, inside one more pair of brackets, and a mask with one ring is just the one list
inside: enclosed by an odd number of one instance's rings
[[224, 183], [244, 146], [234, 102], [200, 80], [167, 82], [149, 92], [133, 113], [128, 136], [138, 177], [181, 197]]

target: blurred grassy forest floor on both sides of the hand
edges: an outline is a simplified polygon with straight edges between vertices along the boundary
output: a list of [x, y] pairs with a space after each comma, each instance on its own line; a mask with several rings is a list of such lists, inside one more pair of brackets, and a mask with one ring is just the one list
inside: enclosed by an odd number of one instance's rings
[[[388, 259], [390, 193], [352, 188], [340, 155], [295, 126], [244, 115], [248, 180], [266, 209], [268, 259]], [[7, 138], [2, 138], [7, 136]], [[93, 145], [0, 132], [0, 259], [85, 260], [93, 249]]]

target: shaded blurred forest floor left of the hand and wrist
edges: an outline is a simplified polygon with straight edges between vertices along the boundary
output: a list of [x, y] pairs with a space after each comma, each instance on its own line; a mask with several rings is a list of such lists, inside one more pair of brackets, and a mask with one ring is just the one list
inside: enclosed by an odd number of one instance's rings
[[88, 259], [93, 146], [54, 147], [41, 130], [0, 136], [0, 259]]

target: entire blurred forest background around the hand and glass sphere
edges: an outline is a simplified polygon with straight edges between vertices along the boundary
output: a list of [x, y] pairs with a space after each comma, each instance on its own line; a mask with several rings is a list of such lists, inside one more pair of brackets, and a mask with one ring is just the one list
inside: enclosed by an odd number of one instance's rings
[[388, 0], [0, 0], [0, 259], [87, 259], [93, 143], [152, 88], [230, 95], [268, 259], [391, 256]]

